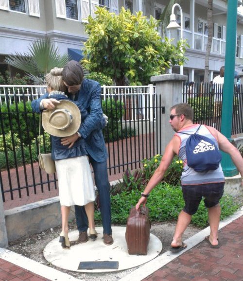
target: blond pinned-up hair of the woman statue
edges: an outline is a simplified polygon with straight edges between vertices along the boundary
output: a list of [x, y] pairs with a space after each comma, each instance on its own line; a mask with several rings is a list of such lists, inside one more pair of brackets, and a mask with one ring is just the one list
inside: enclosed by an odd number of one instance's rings
[[62, 78], [62, 68], [53, 68], [50, 73], [47, 73], [45, 76], [47, 86], [51, 87], [55, 91], [66, 91], [66, 86], [63, 83]]

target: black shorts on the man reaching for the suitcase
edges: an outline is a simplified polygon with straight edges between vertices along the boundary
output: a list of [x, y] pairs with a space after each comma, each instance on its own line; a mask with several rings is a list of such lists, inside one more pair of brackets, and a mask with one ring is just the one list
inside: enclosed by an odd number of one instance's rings
[[193, 215], [204, 197], [205, 207], [211, 208], [219, 203], [224, 193], [224, 182], [199, 184], [199, 185], [182, 185], [182, 193], [185, 201], [183, 211]]

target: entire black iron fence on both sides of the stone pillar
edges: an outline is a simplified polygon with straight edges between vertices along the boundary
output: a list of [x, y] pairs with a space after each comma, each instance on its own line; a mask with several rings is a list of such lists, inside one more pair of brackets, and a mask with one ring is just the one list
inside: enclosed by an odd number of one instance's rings
[[[3, 202], [57, 190], [56, 175], [39, 168], [39, 115], [31, 101], [45, 89], [0, 88], [0, 187]], [[140, 167], [144, 158], [161, 154], [161, 116], [164, 107], [153, 85], [103, 87], [102, 104], [108, 116], [104, 138], [108, 150], [108, 173], [121, 178], [126, 169]], [[183, 85], [182, 99], [194, 109], [194, 123], [221, 129], [223, 88], [210, 84]], [[235, 86], [232, 135], [243, 133], [243, 87]], [[40, 149], [51, 151], [50, 136], [40, 134]], [[116, 177], [117, 176], [117, 177]], [[118, 177], [119, 176], [119, 177]]]

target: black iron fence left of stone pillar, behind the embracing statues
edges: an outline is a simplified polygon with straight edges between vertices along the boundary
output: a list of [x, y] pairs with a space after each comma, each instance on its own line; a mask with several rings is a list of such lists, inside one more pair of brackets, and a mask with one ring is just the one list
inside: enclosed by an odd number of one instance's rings
[[[151, 87], [150, 87], [151, 88]], [[41, 130], [39, 114], [32, 112], [31, 101], [39, 94], [28, 96], [8, 92], [0, 105], [0, 187], [3, 202], [50, 192], [57, 189], [56, 175], [48, 175], [39, 168], [38, 153], [51, 151], [50, 136]], [[136, 169], [144, 158], [161, 153], [155, 129], [160, 116], [156, 110], [161, 100], [152, 91], [131, 88], [129, 91], [107, 90], [102, 95], [108, 124], [104, 138], [108, 150], [108, 173], [114, 176], [126, 169]], [[38, 147], [40, 138], [40, 148]], [[121, 178], [121, 176], [119, 176]]]

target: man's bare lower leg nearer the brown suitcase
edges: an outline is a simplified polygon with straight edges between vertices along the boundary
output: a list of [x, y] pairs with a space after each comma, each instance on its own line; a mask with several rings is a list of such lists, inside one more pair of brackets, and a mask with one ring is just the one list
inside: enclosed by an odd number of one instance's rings
[[177, 224], [174, 231], [173, 241], [171, 243], [172, 247], [178, 247], [182, 244], [182, 235], [188, 225], [191, 222], [191, 215], [184, 212], [183, 210], [180, 212], [177, 220]]

